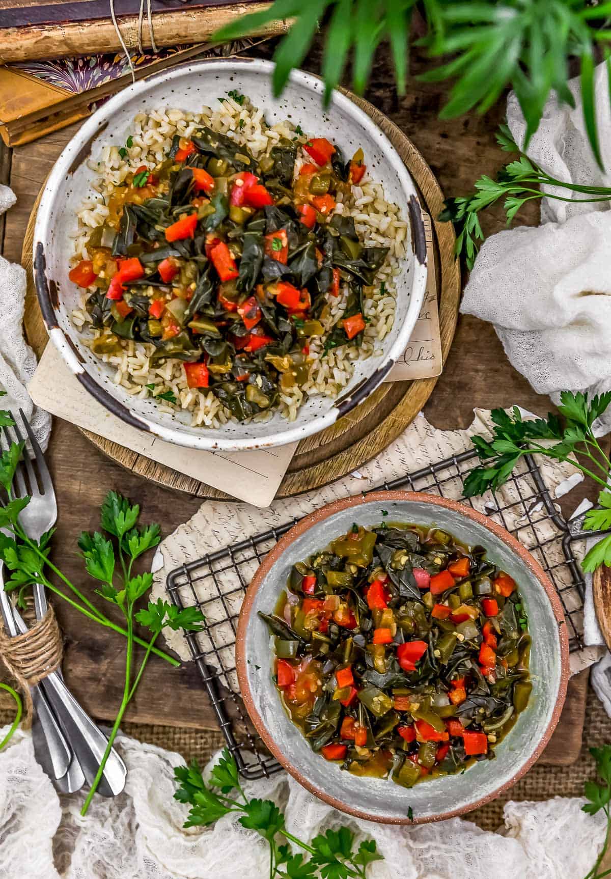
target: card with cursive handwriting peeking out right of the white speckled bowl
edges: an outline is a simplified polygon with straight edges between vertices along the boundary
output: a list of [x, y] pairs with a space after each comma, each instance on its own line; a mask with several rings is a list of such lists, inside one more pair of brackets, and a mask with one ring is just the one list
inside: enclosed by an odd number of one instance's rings
[[435, 375], [439, 375], [443, 367], [433, 252], [433, 224], [428, 214], [423, 212], [422, 218], [425, 222], [426, 264], [428, 266], [425, 298], [422, 301], [416, 326], [411, 334], [410, 344], [405, 349], [403, 357], [396, 361], [385, 381], [431, 379]]

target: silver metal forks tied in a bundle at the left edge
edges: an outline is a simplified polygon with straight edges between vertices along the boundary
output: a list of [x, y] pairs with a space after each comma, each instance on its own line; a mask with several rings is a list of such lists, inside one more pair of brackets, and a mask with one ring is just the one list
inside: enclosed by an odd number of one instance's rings
[[[40, 537], [55, 525], [57, 519], [55, 490], [32, 428], [23, 411], [19, 410], [19, 414], [34, 459], [30, 460], [28, 454], [24, 453], [15, 471], [11, 494], [13, 498], [31, 498], [28, 505], [19, 513], [19, 523], [28, 537], [39, 541]], [[10, 447], [15, 441], [23, 442], [18, 419], [13, 418], [13, 421], [12, 427], [3, 427], [4, 436], [0, 439], [0, 450]], [[14, 437], [12, 432], [15, 434]], [[4, 531], [4, 529], [0, 530]], [[9, 534], [7, 531], [4, 533]], [[13, 606], [8, 593], [4, 591], [3, 569], [4, 563], [0, 562], [0, 610], [5, 632], [11, 638], [27, 636], [30, 628], [18, 608]], [[33, 606], [36, 621], [40, 624], [48, 613], [45, 586], [41, 583], [33, 586]], [[25, 643], [25, 640], [21, 638], [19, 643]], [[47, 666], [42, 669], [44, 677], [30, 686], [33, 708], [37, 723], [40, 724], [40, 729], [34, 732], [40, 733], [35, 738], [38, 737], [44, 743], [48, 759], [41, 759], [41, 762], [49, 766], [49, 773], [55, 780], [55, 786], [63, 793], [74, 793], [84, 785], [92, 785], [104, 757], [108, 739], [70, 693], [63, 681], [61, 668], [55, 668], [55, 665], [58, 665], [57, 662], [47, 662]], [[113, 748], [106, 761], [98, 785], [98, 793], [105, 796], [120, 794], [125, 787], [126, 776], [126, 766]]]

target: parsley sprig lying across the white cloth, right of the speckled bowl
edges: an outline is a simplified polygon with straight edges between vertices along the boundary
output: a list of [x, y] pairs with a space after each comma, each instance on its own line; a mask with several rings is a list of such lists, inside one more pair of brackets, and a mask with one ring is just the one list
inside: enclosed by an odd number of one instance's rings
[[[513, 136], [506, 125], [498, 129], [497, 142], [506, 152], [520, 152]], [[583, 199], [571, 199], [559, 193], [542, 192], [535, 188], [540, 186], [556, 186], [572, 193], [581, 193]], [[556, 199], [579, 204], [585, 201], [611, 200], [611, 189], [607, 186], [581, 186], [556, 180], [542, 168], [523, 154], [520, 158], [506, 164], [498, 171], [497, 178], [492, 179], [486, 174], [478, 178], [475, 192], [444, 201], [445, 208], [440, 213], [440, 221], [453, 222], [456, 229], [455, 253], [464, 254], [469, 269], [473, 268], [479, 243], [484, 241], [484, 233], [479, 220], [479, 212], [504, 199], [503, 207], [507, 218], [507, 226], [513, 221], [515, 214], [527, 201], [534, 199]]]

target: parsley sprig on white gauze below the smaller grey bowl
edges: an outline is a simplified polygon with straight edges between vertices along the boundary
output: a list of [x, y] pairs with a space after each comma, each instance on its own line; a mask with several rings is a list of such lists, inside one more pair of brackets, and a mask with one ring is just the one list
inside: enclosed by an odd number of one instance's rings
[[[176, 766], [174, 778], [178, 783], [174, 798], [191, 806], [185, 827], [211, 825], [236, 812], [243, 827], [258, 832], [269, 843], [270, 879], [367, 879], [369, 864], [382, 861], [374, 839], [364, 839], [355, 849], [354, 834], [347, 827], [320, 833], [309, 843], [297, 839], [287, 831], [284, 815], [272, 800], [246, 796], [240, 786], [236, 761], [227, 748], [212, 769], [208, 783], [195, 760], [189, 766]], [[279, 837], [301, 848], [305, 855], [293, 854], [289, 846], [279, 843]]]

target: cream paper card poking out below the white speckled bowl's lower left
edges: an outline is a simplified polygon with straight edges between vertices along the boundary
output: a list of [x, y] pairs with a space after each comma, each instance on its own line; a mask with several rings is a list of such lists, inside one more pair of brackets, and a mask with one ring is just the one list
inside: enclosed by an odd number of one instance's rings
[[297, 447], [297, 443], [290, 443], [252, 452], [206, 452], [175, 446], [136, 430], [87, 393], [51, 343], [45, 348], [27, 389], [33, 402], [52, 415], [254, 506], [272, 503]]

